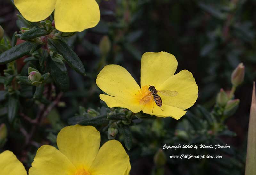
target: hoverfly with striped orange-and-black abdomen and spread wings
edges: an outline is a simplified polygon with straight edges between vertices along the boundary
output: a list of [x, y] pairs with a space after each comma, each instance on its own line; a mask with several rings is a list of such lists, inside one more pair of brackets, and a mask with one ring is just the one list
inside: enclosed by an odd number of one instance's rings
[[155, 86], [149, 86], [148, 91], [149, 91], [148, 94], [146, 94], [142, 99], [140, 99], [140, 105], [145, 105], [151, 99], [154, 99], [154, 100], [152, 100], [153, 101], [152, 113], [154, 110], [154, 101], [155, 101], [156, 105], [159, 106], [162, 111], [164, 111], [161, 108], [161, 106], [163, 104], [162, 99], [157, 93], [159, 93], [160, 95], [162, 94], [164, 96], [169, 96], [169, 97], [175, 97], [176, 95], [178, 95], [178, 92], [176, 92], [176, 91], [157, 91]]

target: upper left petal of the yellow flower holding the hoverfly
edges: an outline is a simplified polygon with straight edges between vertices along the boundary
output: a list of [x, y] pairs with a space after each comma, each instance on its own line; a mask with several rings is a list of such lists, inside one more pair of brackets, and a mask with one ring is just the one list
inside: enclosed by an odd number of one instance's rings
[[131, 74], [115, 64], [107, 65], [100, 71], [96, 84], [102, 91], [114, 97], [131, 98], [140, 90]]

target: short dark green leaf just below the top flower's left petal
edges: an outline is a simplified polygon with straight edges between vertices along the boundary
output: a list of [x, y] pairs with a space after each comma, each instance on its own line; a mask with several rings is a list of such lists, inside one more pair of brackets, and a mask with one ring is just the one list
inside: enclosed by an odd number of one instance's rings
[[45, 28], [34, 28], [32, 30], [29, 30], [28, 32], [25, 32], [20, 36], [20, 39], [22, 40], [31, 40], [40, 36], [49, 35], [50, 32], [48, 32]]

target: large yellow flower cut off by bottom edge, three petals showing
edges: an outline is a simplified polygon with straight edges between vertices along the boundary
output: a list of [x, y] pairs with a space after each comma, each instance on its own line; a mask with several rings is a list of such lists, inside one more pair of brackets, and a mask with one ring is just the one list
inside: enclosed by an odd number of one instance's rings
[[[57, 136], [58, 149], [40, 147], [29, 175], [128, 175], [129, 156], [119, 141], [100, 147], [100, 132], [92, 126], [67, 126]], [[99, 149], [100, 147], [100, 149]]]

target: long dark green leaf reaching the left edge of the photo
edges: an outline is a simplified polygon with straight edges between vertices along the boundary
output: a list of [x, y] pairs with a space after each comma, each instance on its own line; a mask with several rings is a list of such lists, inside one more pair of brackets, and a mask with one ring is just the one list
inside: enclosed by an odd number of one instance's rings
[[7, 64], [14, 60], [17, 60], [18, 58], [21, 58], [27, 55], [35, 45], [38, 46], [40, 44], [25, 42], [25, 43], [16, 45], [15, 47], [12, 47], [11, 49], [0, 54], [0, 64]]

